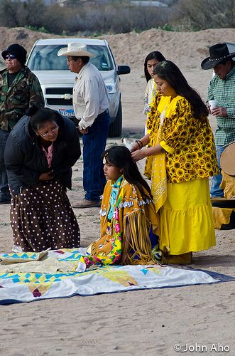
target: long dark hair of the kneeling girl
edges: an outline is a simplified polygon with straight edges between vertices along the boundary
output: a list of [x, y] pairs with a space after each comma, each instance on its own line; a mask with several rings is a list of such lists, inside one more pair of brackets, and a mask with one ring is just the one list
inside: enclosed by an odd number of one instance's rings
[[[151, 197], [151, 189], [148, 186], [148, 183], [141, 176], [137, 164], [133, 161], [131, 152], [128, 148], [124, 146], [112, 146], [102, 153], [102, 159], [104, 158], [109, 164], [123, 169], [126, 181], [130, 184], [136, 185], [136, 187], [140, 190], [142, 197]], [[149, 195], [146, 194], [143, 187]]]

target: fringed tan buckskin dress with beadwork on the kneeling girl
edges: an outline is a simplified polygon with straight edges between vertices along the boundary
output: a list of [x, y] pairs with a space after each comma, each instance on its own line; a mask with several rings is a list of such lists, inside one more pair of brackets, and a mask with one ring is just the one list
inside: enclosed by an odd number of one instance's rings
[[101, 237], [88, 248], [92, 256], [102, 264], [118, 264], [122, 253], [129, 264], [155, 262], [149, 233], [151, 229], [155, 233], [159, 221], [148, 192], [142, 197], [123, 176], [117, 182], [108, 181], [100, 214]]

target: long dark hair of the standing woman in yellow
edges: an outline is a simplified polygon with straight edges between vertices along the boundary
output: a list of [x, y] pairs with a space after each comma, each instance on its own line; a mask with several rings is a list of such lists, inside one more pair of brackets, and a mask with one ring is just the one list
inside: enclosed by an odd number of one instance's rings
[[170, 84], [177, 95], [183, 96], [191, 105], [195, 117], [207, 116], [207, 106], [203, 103], [202, 98], [195, 89], [190, 87], [180, 68], [171, 61], [158, 63], [153, 70], [153, 74], [157, 74], [160, 79], [166, 80]]

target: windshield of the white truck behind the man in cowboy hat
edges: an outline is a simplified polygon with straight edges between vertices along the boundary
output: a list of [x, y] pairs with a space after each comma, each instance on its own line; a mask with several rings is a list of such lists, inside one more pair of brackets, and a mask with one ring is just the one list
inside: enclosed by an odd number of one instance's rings
[[[66, 45], [35, 46], [28, 58], [27, 66], [31, 70], [68, 70], [66, 56], [58, 57], [60, 48]], [[95, 57], [90, 58], [90, 63], [99, 70], [114, 69], [111, 57], [106, 46], [87, 45], [87, 51], [92, 52]]]

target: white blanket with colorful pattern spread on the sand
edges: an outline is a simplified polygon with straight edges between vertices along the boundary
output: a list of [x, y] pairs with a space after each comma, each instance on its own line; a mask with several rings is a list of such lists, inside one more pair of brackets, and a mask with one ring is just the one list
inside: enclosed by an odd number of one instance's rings
[[163, 265], [93, 266], [79, 272], [85, 251], [1, 254], [0, 304], [235, 280], [209, 271]]

